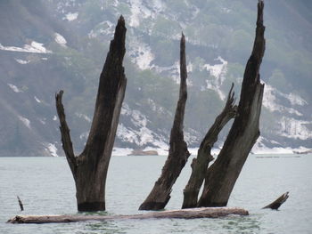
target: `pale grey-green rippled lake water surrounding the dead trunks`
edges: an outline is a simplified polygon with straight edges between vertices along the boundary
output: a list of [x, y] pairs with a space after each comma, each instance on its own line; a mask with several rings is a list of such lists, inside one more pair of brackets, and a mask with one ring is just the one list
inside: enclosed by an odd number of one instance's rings
[[[166, 157], [112, 157], [106, 213], [139, 214]], [[192, 158], [189, 159], [189, 162]], [[312, 155], [250, 155], [228, 206], [249, 216], [196, 220], [132, 220], [61, 224], [8, 224], [16, 214], [78, 214], [74, 181], [64, 157], [0, 157], [0, 233], [312, 233]], [[173, 188], [166, 209], [177, 209], [190, 165]], [[290, 191], [279, 211], [261, 207]], [[19, 195], [25, 211], [21, 212]]]

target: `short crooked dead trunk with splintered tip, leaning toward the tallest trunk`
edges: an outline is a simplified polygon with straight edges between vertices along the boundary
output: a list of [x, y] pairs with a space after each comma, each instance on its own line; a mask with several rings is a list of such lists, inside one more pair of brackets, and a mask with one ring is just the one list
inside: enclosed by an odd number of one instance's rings
[[197, 206], [198, 194], [201, 190], [201, 184], [205, 179], [205, 175], [208, 169], [209, 162], [214, 158], [211, 156], [211, 148], [218, 141], [218, 134], [221, 132], [227, 122], [233, 118], [236, 114], [237, 106], [234, 105], [234, 84], [232, 84], [231, 90], [228, 93], [226, 106], [222, 110], [221, 114], [215, 120], [215, 123], [210, 127], [208, 133], [206, 133], [204, 139], [201, 141], [200, 149], [198, 149], [197, 157], [193, 158], [192, 162], [192, 174], [189, 181], [185, 186], [184, 200], [182, 208], [193, 208]]

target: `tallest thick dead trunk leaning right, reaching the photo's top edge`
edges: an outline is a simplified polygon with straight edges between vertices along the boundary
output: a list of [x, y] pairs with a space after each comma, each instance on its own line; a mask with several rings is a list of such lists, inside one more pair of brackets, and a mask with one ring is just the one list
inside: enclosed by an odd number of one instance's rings
[[259, 75], [265, 52], [263, 8], [264, 3], [259, 0], [256, 37], [243, 75], [237, 116], [217, 160], [208, 169], [198, 206], [226, 206], [250, 149], [259, 137], [264, 89]]

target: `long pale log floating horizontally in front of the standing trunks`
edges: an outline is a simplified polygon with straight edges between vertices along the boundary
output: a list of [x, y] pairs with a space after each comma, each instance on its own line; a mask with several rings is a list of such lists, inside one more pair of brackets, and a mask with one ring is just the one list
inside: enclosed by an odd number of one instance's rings
[[160, 211], [131, 215], [16, 215], [9, 223], [50, 223], [50, 222], [83, 222], [110, 220], [142, 219], [198, 219], [218, 218], [229, 214], [248, 215], [248, 211], [239, 207], [209, 207], [183, 210]]

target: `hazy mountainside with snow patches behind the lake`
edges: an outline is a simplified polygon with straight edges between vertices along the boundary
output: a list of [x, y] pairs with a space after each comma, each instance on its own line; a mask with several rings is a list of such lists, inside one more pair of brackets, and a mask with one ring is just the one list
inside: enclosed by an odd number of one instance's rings
[[[54, 104], [61, 89], [74, 148], [80, 152], [120, 14], [127, 23], [127, 91], [113, 154], [132, 149], [166, 153], [177, 104], [182, 31], [188, 64], [185, 140], [190, 148], [199, 147], [232, 82], [239, 99], [257, 3], [0, 1], [0, 156], [63, 154]], [[260, 73], [266, 86], [261, 136], [253, 151], [311, 149], [312, 2], [267, 0], [265, 25], [267, 50]]]

